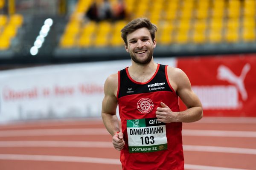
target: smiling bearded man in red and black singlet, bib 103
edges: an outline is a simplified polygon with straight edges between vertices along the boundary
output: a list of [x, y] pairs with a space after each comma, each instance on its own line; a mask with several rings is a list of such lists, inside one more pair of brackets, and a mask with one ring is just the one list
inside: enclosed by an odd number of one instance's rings
[[[113, 147], [121, 151], [123, 170], [184, 170], [182, 122], [203, 116], [186, 74], [154, 62], [156, 31], [147, 18], [132, 20], [122, 28], [131, 66], [110, 75], [104, 85], [102, 120]], [[185, 111], [179, 109], [179, 97]]]

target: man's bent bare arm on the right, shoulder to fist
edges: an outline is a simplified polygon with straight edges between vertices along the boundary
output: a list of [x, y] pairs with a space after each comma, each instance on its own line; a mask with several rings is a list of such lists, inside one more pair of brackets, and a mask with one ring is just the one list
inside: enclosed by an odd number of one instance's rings
[[164, 103], [157, 108], [157, 118], [161, 122], [195, 122], [203, 117], [203, 108], [198, 96], [192, 91], [189, 78], [178, 68], [168, 67], [168, 77], [176, 94], [180, 97], [187, 109], [172, 112]]

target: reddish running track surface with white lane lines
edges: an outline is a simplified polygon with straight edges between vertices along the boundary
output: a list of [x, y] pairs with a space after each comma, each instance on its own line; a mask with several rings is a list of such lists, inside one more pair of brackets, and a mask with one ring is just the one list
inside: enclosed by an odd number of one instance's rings
[[[101, 120], [0, 125], [0, 170], [121, 170]], [[186, 170], [256, 170], [256, 119], [183, 124]], [[225, 169], [226, 168], [226, 169]]]

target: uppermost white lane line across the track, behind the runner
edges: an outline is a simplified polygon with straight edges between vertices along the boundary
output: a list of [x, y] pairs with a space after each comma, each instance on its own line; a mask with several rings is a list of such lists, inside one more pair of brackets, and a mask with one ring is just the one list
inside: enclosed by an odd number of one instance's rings
[[[67, 135], [110, 135], [110, 134], [105, 128], [0, 130], [0, 137], [67, 136]], [[221, 136], [221, 137], [256, 138], [256, 131], [183, 129], [182, 135], [183, 136]]]

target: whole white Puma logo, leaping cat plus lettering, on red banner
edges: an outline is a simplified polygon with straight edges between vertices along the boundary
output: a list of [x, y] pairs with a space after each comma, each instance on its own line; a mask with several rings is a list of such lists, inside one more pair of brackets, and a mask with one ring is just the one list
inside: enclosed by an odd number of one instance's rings
[[[216, 75], [217, 80], [227, 81], [230, 85], [192, 86], [192, 89], [201, 99], [204, 109], [233, 110], [242, 108], [242, 101], [248, 99], [244, 79], [249, 71], [249, 63], [244, 65], [239, 76], [234, 74], [227, 66], [219, 65]], [[239, 94], [242, 101], [239, 101]]]

